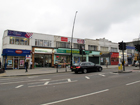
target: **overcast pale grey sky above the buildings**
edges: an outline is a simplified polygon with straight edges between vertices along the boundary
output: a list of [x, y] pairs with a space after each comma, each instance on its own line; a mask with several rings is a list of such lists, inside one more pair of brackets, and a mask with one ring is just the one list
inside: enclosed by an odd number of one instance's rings
[[[76, 14], [77, 11], [77, 14]], [[4, 30], [130, 42], [140, 34], [140, 0], [0, 0]]]

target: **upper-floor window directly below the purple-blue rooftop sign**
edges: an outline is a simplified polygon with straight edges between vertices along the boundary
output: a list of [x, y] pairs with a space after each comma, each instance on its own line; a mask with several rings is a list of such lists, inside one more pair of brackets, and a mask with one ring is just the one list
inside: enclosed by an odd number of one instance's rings
[[29, 39], [22, 37], [10, 37], [10, 44], [29, 45]]

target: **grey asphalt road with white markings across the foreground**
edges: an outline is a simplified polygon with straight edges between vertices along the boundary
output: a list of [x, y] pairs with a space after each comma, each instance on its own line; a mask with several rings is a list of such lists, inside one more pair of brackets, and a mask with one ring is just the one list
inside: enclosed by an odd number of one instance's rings
[[0, 77], [0, 105], [140, 105], [140, 70]]

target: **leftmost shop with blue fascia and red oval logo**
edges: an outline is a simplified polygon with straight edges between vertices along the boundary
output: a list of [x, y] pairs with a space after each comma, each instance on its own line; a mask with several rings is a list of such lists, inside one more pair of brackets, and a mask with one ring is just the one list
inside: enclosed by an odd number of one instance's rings
[[23, 69], [26, 56], [30, 53], [31, 50], [3, 49], [3, 66], [5, 69]]

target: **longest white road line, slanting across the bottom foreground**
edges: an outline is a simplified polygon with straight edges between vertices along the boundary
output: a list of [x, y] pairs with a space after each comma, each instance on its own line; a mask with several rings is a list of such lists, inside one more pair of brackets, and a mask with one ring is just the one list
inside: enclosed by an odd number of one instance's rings
[[89, 94], [85, 94], [85, 95], [81, 95], [81, 96], [76, 96], [76, 97], [72, 97], [72, 98], [67, 98], [67, 99], [63, 99], [63, 100], [59, 100], [59, 101], [49, 102], [49, 103], [41, 104], [41, 105], [57, 104], [57, 103], [64, 102], [64, 101], [69, 101], [69, 100], [73, 100], [73, 99], [77, 99], [77, 98], [91, 96], [91, 95], [98, 94], [98, 93], [103, 93], [106, 91], [109, 91], [109, 89], [105, 89], [105, 90], [101, 90], [101, 91], [97, 91], [97, 92], [93, 92], [93, 93], [89, 93]]

